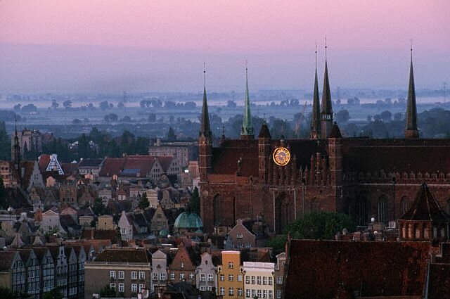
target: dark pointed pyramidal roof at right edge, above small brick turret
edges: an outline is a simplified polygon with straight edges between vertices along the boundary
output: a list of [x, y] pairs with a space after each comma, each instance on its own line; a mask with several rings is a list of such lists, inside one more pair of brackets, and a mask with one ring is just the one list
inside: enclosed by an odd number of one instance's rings
[[399, 220], [420, 220], [442, 222], [449, 221], [450, 216], [442, 210], [426, 183], [420, 186], [411, 208]]

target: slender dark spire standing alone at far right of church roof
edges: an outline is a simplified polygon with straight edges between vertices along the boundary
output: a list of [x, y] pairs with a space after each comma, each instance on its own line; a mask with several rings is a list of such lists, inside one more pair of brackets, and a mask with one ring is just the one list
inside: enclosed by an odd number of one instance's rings
[[419, 130], [417, 128], [416, 87], [414, 86], [414, 72], [413, 72], [412, 39], [411, 39], [411, 65], [409, 67], [408, 103], [406, 105], [405, 138], [406, 139], [419, 138]]

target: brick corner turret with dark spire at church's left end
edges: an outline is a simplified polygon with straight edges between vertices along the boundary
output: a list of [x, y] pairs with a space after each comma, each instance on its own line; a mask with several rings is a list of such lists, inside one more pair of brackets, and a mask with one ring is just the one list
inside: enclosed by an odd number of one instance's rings
[[210, 127], [210, 115], [206, 99], [206, 70], [203, 69], [203, 108], [200, 119], [200, 132], [198, 134], [198, 151], [200, 158], [199, 172], [200, 182], [207, 180], [207, 174], [212, 169], [212, 132]]

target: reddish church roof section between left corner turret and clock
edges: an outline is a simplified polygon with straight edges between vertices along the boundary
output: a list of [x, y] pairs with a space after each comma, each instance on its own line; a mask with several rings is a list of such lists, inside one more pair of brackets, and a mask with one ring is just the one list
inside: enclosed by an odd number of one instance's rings
[[258, 176], [258, 141], [253, 140], [225, 140], [219, 148], [212, 149], [212, 173], [236, 174], [238, 160], [240, 175], [243, 177]]

